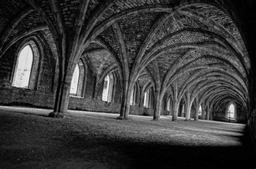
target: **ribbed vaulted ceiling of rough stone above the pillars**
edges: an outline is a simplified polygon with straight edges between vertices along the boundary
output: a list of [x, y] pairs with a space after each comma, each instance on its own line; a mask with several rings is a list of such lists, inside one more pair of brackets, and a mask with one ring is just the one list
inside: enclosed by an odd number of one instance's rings
[[211, 103], [248, 102], [250, 58], [239, 29], [217, 3], [25, 2], [6, 1], [0, 10], [1, 56], [22, 38], [36, 35], [48, 44], [56, 62], [60, 32], [70, 40], [80, 29], [73, 41], [76, 57], [86, 58], [95, 76], [105, 71], [122, 74], [127, 64], [140, 92], [150, 84], [159, 87], [163, 97], [172, 94], [177, 80], [179, 100], [190, 91], [192, 97]]

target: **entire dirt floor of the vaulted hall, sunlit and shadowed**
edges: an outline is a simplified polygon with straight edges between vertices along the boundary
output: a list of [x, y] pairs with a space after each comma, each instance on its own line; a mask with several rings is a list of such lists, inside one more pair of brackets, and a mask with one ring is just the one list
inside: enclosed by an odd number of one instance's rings
[[57, 119], [49, 112], [0, 106], [1, 169], [255, 168], [242, 124], [84, 111]]

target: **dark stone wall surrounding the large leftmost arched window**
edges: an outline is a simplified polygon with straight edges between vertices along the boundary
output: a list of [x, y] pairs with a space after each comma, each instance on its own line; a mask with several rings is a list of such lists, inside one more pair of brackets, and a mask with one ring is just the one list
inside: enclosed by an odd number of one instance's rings
[[[39, 76], [36, 79], [37, 86], [33, 89], [24, 89], [11, 85], [14, 76], [15, 62], [18, 56], [17, 49], [19, 49], [20, 44], [28, 40], [29, 39], [20, 40], [0, 58], [0, 104], [52, 108], [54, 101], [52, 92], [53, 73], [51, 71], [51, 64], [49, 64], [50, 56], [48, 56], [51, 55], [51, 53], [48, 50], [39, 49], [39, 46], [37, 46], [37, 48], [44, 53], [44, 56], [41, 56], [41, 63], [39, 63], [41, 69], [38, 70]], [[36, 40], [36, 37], [34, 40]]]

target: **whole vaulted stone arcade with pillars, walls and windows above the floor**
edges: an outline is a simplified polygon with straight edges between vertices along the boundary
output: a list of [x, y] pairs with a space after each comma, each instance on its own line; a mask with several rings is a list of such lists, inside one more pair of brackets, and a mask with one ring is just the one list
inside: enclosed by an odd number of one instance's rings
[[231, 120], [255, 138], [253, 0], [1, 3], [2, 105]]

